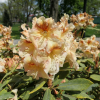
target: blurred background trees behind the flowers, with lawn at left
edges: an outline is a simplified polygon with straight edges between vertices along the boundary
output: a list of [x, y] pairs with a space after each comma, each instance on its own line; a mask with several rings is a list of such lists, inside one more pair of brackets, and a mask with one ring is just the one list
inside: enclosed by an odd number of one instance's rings
[[[64, 13], [70, 16], [82, 13], [83, 6], [84, 0], [7, 0], [0, 2], [0, 23], [12, 26], [12, 31], [18, 33], [22, 23], [31, 26], [33, 17], [52, 17], [59, 21]], [[100, 24], [100, 0], [87, 0], [86, 12], [94, 17], [95, 24]], [[88, 34], [92, 35], [89, 30]], [[19, 38], [20, 34], [16, 37], [13, 32], [14, 38]]]

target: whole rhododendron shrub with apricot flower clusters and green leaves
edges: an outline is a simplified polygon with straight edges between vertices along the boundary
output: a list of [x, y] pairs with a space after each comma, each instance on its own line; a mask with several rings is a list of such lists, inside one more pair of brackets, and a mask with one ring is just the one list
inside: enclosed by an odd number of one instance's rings
[[89, 25], [96, 26], [87, 13], [34, 17], [16, 46], [11, 27], [0, 25], [0, 99], [99, 100], [99, 42], [82, 38]]

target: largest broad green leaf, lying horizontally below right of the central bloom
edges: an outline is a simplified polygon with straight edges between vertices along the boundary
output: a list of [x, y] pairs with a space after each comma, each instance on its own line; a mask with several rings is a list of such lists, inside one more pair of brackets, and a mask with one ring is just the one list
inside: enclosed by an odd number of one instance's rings
[[77, 78], [77, 79], [70, 80], [67, 83], [60, 84], [58, 86], [58, 89], [67, 90], [67, 91], [82, 91], [87, 89], [92, 84], [93, 82], [91, 82], [88, 79]]

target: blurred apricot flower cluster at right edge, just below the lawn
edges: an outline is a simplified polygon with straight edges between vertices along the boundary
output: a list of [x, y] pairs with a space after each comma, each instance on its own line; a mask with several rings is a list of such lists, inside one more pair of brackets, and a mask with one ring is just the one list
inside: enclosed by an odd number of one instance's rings
[[98, 50], [99, 42], [96, 41], [96, 36], [93, 35], [90, 38], [87, 38], [86, 40], [80, 39], [79, 40], [79, 49], [82, 50], [84, 53], [84, 56], [91, 57], [93, 56], [94, 60], [99, 54]]

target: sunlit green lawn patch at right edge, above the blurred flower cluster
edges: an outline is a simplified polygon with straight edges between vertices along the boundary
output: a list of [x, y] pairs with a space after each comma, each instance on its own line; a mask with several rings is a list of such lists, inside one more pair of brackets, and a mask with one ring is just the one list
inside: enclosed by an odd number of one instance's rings
[[96, 37], [100, 37], [100, 24], [96, 27], [88, 27], [85, 32], [86, 37], [90, 37], [92, 35], [96, 35]]

